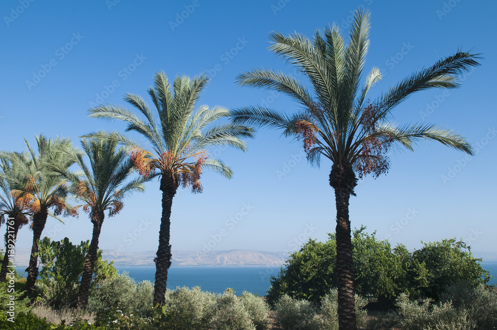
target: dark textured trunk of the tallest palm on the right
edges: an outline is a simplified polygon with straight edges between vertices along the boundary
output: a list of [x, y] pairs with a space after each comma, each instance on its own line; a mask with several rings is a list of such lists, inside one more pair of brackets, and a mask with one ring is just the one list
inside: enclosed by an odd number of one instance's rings
[[338, 279], [338, 329], [356, 330], [354, 263], [348, 205], [357, 178], [348, 164], [333, 165], [330, 185], [336, 202], [336, 275]]

